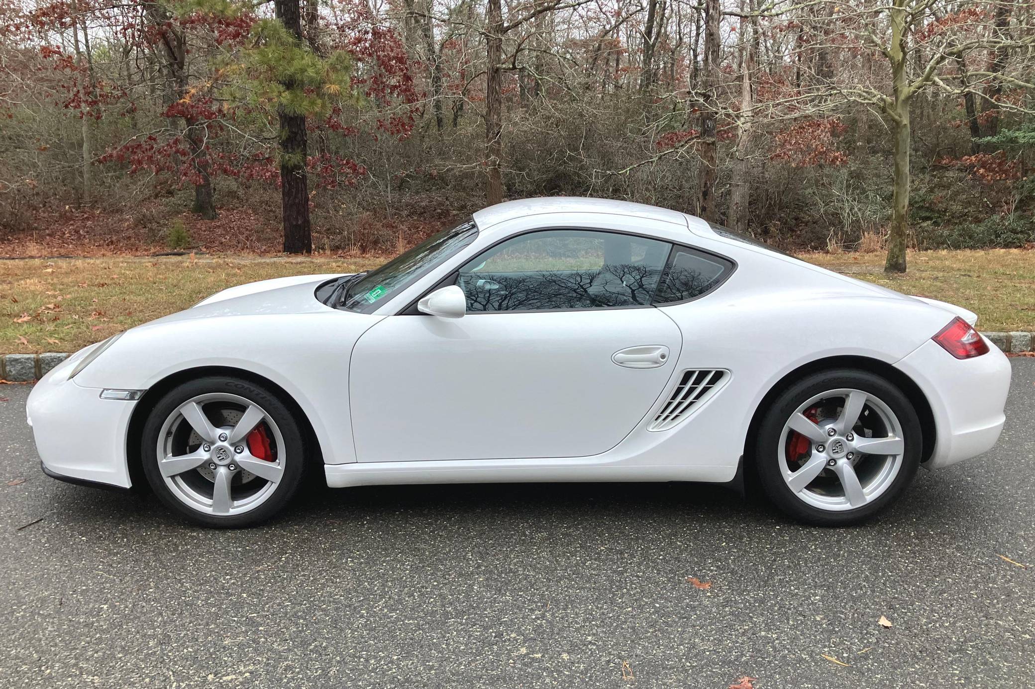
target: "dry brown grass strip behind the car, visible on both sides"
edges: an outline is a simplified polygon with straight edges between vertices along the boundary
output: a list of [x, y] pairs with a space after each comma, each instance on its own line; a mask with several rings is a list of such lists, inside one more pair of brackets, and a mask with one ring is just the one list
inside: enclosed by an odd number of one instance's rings
[[[906, 275], [883, 253], [806, 261], [978, 313], [983, 330], [1035, 330], [1035, 251], [921, 251]], [[0, 261], [0, 354], [70, 352], [190, 306], [218, 290], [284, 275], [353, 272], [384, 259], [167, 257]]]

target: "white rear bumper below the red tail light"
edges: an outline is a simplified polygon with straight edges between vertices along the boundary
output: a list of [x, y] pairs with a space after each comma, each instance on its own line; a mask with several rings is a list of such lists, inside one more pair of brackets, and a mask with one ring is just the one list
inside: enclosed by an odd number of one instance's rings
[[935, 448], [924, 462], [940, 469], [987, 452], [999, 440], [1010, 391], [1010, 361], [989, 352], [956, 359], [928, 340], [895, 364], [923, 391], [935, 417]]

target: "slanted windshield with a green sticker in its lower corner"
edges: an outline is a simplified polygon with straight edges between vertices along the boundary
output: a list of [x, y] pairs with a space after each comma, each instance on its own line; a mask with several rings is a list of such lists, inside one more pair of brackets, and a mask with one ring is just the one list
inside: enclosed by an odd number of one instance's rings
[[468, 218], [454, 228], [428, 237], [350, 284], [342, 306], [352, 311], [373, 312], [385, 299], [410, 287], [477, 236], [478, 228], [474, 219]]

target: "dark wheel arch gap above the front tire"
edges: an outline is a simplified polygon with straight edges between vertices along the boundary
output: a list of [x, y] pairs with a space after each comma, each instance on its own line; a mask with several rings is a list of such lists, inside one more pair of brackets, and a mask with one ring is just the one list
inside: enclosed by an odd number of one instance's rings
[[144, 435], [144, 425], [151, 415], [151, 410], [161, 399], [167, 392], [186, 381], [203, 378], [207, 376], [229, 376], [239, 378], [249, 383], [255, 383], [265, 387], [275, 394], [291, 412], [292, 417], [302, 431], [302, 440], [305, 443], [306, 455], [309, 461], [319, 466], [323, 465], [323, 452], [320, 448], [320, 440], [317, 438], [313, 424], [302, 408], [295, 401], [288, 392], [279, 385], [264, 376], [260, 376], [243, 368], [233, 366], [198, 366], [195, 368], [184, 368], [175, 373], [171, 373], [152, 385], [140, 401], [134, 407], [129, 417], [129, 426], [126, 430], [126, 466], [129, 471], [129, 483], [134, 490], [150, 490], [147, 479], [144, 476], [144, 468], [141, 463], [140, 447]]

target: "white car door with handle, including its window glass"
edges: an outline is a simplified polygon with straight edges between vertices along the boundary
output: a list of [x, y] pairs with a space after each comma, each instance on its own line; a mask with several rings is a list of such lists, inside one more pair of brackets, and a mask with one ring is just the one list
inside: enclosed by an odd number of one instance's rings
[[650, 305], [671, 245], [542, 230], [452, 277], [461, 319], [392, 316], [350, 366], [360, 461], [581, 457], [618, 445], [666, 389], [679, 328]]

